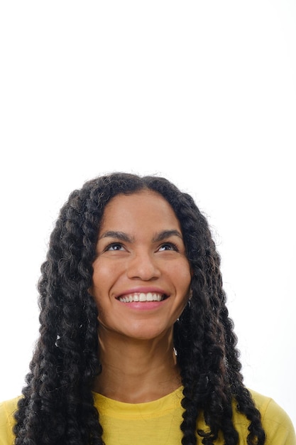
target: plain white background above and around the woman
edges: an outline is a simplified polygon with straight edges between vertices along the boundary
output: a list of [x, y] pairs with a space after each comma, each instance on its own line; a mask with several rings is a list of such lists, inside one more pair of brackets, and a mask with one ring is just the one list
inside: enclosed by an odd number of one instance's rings
[[246, 385], [296, 424], [296, 2], [2, 1], [0, 43], [0, 399], [70, 191], [156, 173], [208, 215]]

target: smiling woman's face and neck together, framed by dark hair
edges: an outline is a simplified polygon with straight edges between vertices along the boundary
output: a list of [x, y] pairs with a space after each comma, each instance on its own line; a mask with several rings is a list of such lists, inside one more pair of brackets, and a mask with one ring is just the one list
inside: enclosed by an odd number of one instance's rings
[[[191, 274], [168, 201], [146, 190], [113, 198], [104, 210], [93, 269], [102, 363], [96, 392], [139, 403], [176, 390], [181, 382], [172, 331], [189, 299]], [[114, 366], [121, 372], [111, 372]]]

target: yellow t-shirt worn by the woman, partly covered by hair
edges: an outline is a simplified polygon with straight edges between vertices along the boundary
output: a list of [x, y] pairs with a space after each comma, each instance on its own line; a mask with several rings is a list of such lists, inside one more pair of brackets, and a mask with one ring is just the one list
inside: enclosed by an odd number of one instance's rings
[[[261, 412], [266, 445], [296, 445], [295, 431], [285, 411], [272, 399], [251, 391]], [[124, 403], [94, 393], [94, 404], [100, 413], [106, 445], [180, 445], [182, 432], [182, 387], [159, 400], [147, 403]], [[13, 445], [13, 412], [18, 399], [0, 404], [0, 445]], [[246, 445], [248, 420], [234, 409], [234, 426]], [[204, 424], [199, 427], [207, 430]], [[200, 443], [200, 442], [199, 442]], [[222, 445], [220, 438], [216, 442]]]

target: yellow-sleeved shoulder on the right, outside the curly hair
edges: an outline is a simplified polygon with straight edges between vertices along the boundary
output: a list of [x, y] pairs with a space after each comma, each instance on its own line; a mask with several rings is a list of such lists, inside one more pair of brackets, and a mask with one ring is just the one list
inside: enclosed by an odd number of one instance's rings
[[295, 430], [285, 410], [273, 399], [250, 390], [256, 408], [261, 412], [266, 445], [296, 445]]

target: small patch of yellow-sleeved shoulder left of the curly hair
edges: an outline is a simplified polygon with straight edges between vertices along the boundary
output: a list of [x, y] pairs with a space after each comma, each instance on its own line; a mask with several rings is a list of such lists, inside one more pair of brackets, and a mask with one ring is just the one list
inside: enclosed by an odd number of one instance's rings
[[19, 397], [0, 403], [0, 445], [12, 445], [14, 441], [14, 413], [18, 409]]

